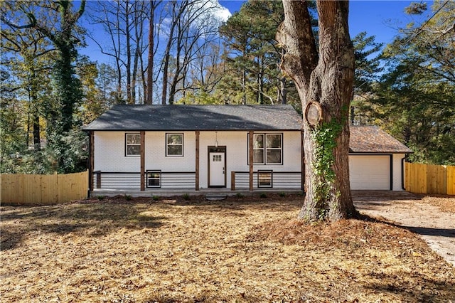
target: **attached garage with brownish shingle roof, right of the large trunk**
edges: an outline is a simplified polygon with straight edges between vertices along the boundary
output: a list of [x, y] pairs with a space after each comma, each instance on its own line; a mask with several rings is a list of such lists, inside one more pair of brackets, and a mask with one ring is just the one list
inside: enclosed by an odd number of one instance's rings
[[352, 190], [402, 191], [404, 161], [412, 153], [377, 126], [350, 126], [349, 173]]

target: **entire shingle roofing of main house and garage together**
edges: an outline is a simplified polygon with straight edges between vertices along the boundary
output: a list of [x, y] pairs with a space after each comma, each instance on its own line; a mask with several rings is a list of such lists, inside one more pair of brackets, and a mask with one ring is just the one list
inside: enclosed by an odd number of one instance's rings
[[[116, 105], [85, 130], [301, 130], [291, 105]], [[351, 153], [412, 153], [377, 126], [350, 126]]]

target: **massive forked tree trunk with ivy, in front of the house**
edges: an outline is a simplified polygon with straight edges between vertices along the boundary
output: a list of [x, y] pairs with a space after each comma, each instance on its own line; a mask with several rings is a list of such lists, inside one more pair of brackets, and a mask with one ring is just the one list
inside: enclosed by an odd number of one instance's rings
[[[348, 109], [353, 90], [354, 50], [348, 31], [348, 1], [316, 1], [319, 52], [306, 1], [283, 0], [277, 41], [287, 53], [281, 68], [296, 83], [304, 110], [306, 196], [299, 218], [339, 220], [355, 214], [349, 185]], [[321, 119], [306, 120], [307, 105]]]

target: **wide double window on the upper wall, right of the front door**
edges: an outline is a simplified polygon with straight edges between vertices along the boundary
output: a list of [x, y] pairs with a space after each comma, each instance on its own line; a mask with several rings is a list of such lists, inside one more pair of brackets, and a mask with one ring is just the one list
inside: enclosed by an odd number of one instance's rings
[[253, 134], [254, 164], [283, 164], [282, 134]]

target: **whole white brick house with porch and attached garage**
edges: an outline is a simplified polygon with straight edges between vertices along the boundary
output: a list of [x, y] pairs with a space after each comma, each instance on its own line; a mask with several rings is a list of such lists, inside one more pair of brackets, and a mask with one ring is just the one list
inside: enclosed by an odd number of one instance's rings
[[[304, 190], [303, 120], [290, 105], [117, 105], [90, 134], [90, 194]], [[350, 127], [351, 189], [402, 190], [410, 149]]]

